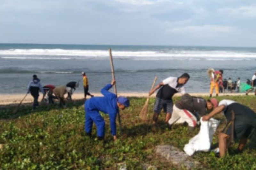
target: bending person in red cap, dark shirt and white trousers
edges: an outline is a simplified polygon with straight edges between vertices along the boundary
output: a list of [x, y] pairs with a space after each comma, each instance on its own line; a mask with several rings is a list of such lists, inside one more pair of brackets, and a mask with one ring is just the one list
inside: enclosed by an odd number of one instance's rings
[[193, 97], [186, 93], [173, 106], [172, 117], [168, 123], [171, 127], [175, 122], [187, 122], [188, 130], [193, 131], [196, 127], [197, 117], [204, 116], [207, 110], [211, 110], [217, 106], [218, 100], [215, 98], [204, 100], [203, 98]]

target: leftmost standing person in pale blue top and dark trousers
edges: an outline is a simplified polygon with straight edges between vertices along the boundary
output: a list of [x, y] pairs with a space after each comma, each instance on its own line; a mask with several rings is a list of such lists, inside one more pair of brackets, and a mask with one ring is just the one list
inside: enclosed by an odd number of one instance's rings
[[28, 83], [28, 93], [33, 96], [34, 102], [32, 108], [35, 109], [38, 104], [39, 91], [44, 94], [44, 89], [40, 83], [40, 79], [36, 75], [33, 75], [33, 79]]

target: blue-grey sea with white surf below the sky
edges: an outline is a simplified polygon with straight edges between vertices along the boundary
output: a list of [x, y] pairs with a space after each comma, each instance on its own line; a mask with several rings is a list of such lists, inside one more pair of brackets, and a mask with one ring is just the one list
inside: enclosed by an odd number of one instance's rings
[[111, 82], [108, 48], [112, 49], [118, 92], [148, 92], [155, 78], [178, 77], [187, 72], [187, 92], [209, 92], [206, 70], [224, 70], [224, 78], [245, 82], [256, 70], [256, 48], [0, 44], [0, 93], [25, 93], [32, 75], [42, 85], [66, 85], [89, 79], [89, 91]]

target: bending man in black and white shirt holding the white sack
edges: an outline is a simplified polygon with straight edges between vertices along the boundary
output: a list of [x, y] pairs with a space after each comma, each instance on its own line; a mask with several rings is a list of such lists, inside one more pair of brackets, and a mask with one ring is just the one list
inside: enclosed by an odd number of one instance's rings
[[209, 120], [222, 111], [227, 119], [227, 125], [219, 134], [220, 157], [225, 156], [227, 148], [234, 138], [240, 139], [237, 150], [241, 152], [247, 139], [252, 137], [253, 130], [256, 128], [254, 111], [233, 100], [221, 100], [218, 107], [210, 114], [203, 116], [203, 121]]

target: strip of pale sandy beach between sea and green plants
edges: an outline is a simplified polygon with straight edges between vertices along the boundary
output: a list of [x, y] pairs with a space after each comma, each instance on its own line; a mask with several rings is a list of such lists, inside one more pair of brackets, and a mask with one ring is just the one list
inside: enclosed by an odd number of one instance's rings
[[[100, 93], [93, 93], [94, 96], [102, 96]], [[208, 96], [209, 93], [190, 93], [192, 96]], [[67, 94], [66, 94], [67, 95]], [[139, 93], [139, 92], [120, 92], [118, 93], [119, 96], [127, 96], [127, 97], [147, 97], [148, 93]], [[176, 93], [175, 96], [180, 96], [180, 93]], [[220, 96], [230, 95], [230, 96], [239, 96], [244, 95], [244, 93], [221, 93]], [[254, 93], [251, 93], [254, 95]], [[10, 104], [18, 104], [23, 99], [25, 94], [1, 94], [0, 95], [0, 105], [10, 105]], [[41, 101], [42, 94], [40, 94], [38, 101]], [[215, 96], [215, 94], [213, 94]], [[73, 100], [83, 99], [84, 93], [74, 93], [72, 95]], [[151, 96], [152, 98], [156, 97], [156, 93]], [[88, 99], [90, 96], [88, 96]], [[33, 102], [33, 97], [28, 94], [23, 103], [31, 103]]]

